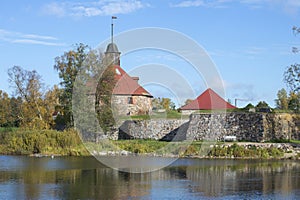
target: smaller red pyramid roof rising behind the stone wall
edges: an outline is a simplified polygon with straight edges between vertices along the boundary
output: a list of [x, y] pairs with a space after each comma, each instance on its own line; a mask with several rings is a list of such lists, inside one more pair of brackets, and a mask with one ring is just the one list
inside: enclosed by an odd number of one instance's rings
[[216, 109], [233, 109], [235, 106], [231, 105], [220, 97], [211, 88], [205, 90], [195, 100], [189, 104], [182, 106], [180, 110], [216, 110]]

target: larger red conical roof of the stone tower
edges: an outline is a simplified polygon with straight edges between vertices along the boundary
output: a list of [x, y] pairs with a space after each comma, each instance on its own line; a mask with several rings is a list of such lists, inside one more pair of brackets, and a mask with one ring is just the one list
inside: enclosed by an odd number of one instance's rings
[[153, 97], [147, 90], [140, 86], [136, 77], [129, 76], [120, 66], [114, 65], [116, 85], [114, 95], [135, 95]]

